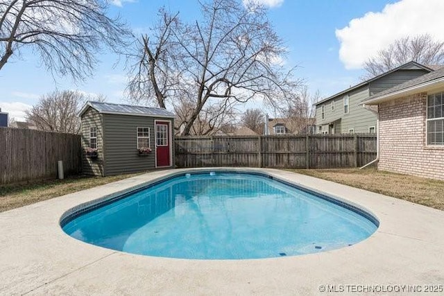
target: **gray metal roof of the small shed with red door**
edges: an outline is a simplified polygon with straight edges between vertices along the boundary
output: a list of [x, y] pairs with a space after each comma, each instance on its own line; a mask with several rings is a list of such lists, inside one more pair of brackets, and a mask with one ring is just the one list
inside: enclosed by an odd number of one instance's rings
[[153, 108], [143, 106], [133, 106], [125, 104], [114, 104], [106, 102], [87, 101], [78, 116], [82, 116], [88, 107], [93, 107], [99, 113], [103, 114], [121, 114], [121, 115], [135, 115], [135, 116], [151, 116], [151, 117], [176, 117], [175, 114], [167, 111], [164, 108]]

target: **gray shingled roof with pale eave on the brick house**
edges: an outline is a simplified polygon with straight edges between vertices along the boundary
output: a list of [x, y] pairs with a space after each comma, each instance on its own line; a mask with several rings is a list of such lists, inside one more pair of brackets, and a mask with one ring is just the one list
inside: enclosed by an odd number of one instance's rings
[[444, 67], [419, 76], [418, 78], [408, 80], [400, 85], [395, 85], [389, 89], [370, 96], [362, 103], [366, 105], [375, 105], [382, 101], [388, 101], [400, 96], [408, 96], [409, 94], [418, 94], [419, 92], [432, 91], [433, 89], [444, 87]]

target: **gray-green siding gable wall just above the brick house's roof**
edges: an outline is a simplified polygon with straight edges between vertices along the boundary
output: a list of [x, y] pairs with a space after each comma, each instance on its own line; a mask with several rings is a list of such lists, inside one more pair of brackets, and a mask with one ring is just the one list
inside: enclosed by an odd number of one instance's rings
[[378, 92], [382, 92], [385, 89], [394, 87], [395, 85], [400, 85], [407, 80], [417, 78], [427, 73], [429, 73], [429, 71], [426, 71], [424, 69], [395, 71], [375, 81], [370, 82], [370, 95], [377, 94]]

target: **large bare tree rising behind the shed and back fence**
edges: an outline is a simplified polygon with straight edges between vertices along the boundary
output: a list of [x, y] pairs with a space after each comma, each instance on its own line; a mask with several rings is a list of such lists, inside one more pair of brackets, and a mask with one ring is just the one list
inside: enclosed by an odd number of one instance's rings
[[130, 55], [136, 59], [130, 68], [131, 100], [155, 99], [160, 107], [185, 100], [183, 135], [202, 114], [219, 122], [218, 116], [253, 97], [273, 107], [287, 105], [302, 82], [280, 62], [286, 51], [266, 9], [238, 0], [200, 2], [200, 8], [203, 20], [191, 24], [160, 10], [151, 37], [142, 37]]

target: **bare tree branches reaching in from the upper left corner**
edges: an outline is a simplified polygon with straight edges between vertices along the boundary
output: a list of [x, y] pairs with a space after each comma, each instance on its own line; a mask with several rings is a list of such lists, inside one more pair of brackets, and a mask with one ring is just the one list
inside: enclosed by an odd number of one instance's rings
[[53, 73], [89, 76], [101, 44], [117, 49], [129, 35], [107, 10], [105, 0], [0, 0], [0, 70], [28, 48]]

